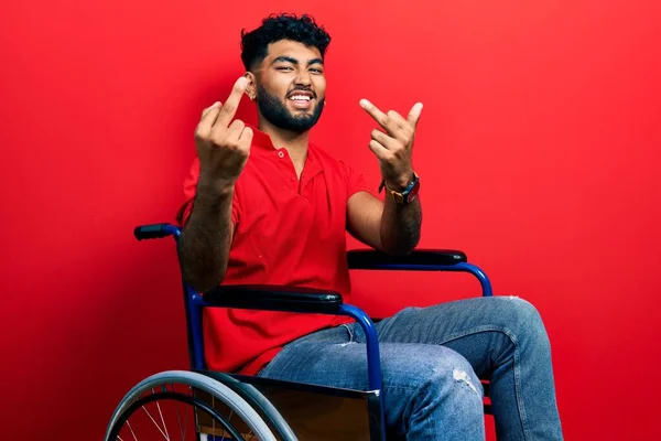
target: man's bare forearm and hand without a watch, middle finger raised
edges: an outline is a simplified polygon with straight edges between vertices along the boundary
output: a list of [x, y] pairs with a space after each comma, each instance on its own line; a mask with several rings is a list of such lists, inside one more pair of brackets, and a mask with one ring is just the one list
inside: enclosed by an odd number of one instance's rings
[[203, 111], [195, 130], [199, 181], [180, 239], [180, 259], [184, 280], [199, 292], [215, 288], [227, 271], [235, 184], [253, 136], [242, 121], [231, 121], [246, 86], [246, 78], [239, 78], [225, 105], [215, 103]]

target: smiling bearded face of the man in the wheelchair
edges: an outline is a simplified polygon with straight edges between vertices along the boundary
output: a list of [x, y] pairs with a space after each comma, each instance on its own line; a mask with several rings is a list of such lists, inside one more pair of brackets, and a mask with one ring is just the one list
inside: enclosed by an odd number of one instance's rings
[[322, 116], [326, 93], [324, 63], [316, 47], [290, 40], [269, 45], [267, 57], [254, 72], [260, 117], [288, 131], [305, 132]]

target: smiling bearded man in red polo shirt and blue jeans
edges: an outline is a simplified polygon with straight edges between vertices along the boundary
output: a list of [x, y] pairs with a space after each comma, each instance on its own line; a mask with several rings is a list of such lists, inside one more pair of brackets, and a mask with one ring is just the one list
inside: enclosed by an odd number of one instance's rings
[[[383, 178], [381, 202], [360, 174], [308, 142], [324, 109], [329, 42], [307, 15], [272, 15], [242, 33], [246, 74], [225, 104], [204, 110], [195, 132], [198, 159], [185, 185], [181, 259], [184, 278], [198, 291], [220, 282], [289, 284], [342, 292], [350, 302], [346, 230], [393, 255], [418, 244], [412, 150], [422, 104], [402, 116], [360, 101], [378, 125], [369, 148]], [[257, 104], [257, 128], [234, 119], [242, 95]], [[364, 335], [347, 318], [205, 314], [210, 369], [367, 387]], [[562, 439], [549, 340], [530, 303], [485, 298], [405, 309], [377, 330], [393, 435], [484, 439], [478, 376], [487, 376], [499, 439]]]

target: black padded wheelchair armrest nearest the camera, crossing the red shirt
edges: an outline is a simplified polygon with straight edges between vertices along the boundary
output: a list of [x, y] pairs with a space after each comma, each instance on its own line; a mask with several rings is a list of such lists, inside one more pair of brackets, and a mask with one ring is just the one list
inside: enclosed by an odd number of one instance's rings
[[337, 292], [271, 284], [221, 284], [203, 298], [209, 306], [318, 314], [337, 314], [343, 305]]

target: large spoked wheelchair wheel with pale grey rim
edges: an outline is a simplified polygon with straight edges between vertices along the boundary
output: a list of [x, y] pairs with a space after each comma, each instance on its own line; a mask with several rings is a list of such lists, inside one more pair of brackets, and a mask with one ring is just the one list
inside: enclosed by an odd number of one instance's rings
[[136, 385], [115, 410], [105, 437], [106, 441], [178, 439], [277, 440], [246, 399], [214, 378], [187, 370], [159, 373]]

